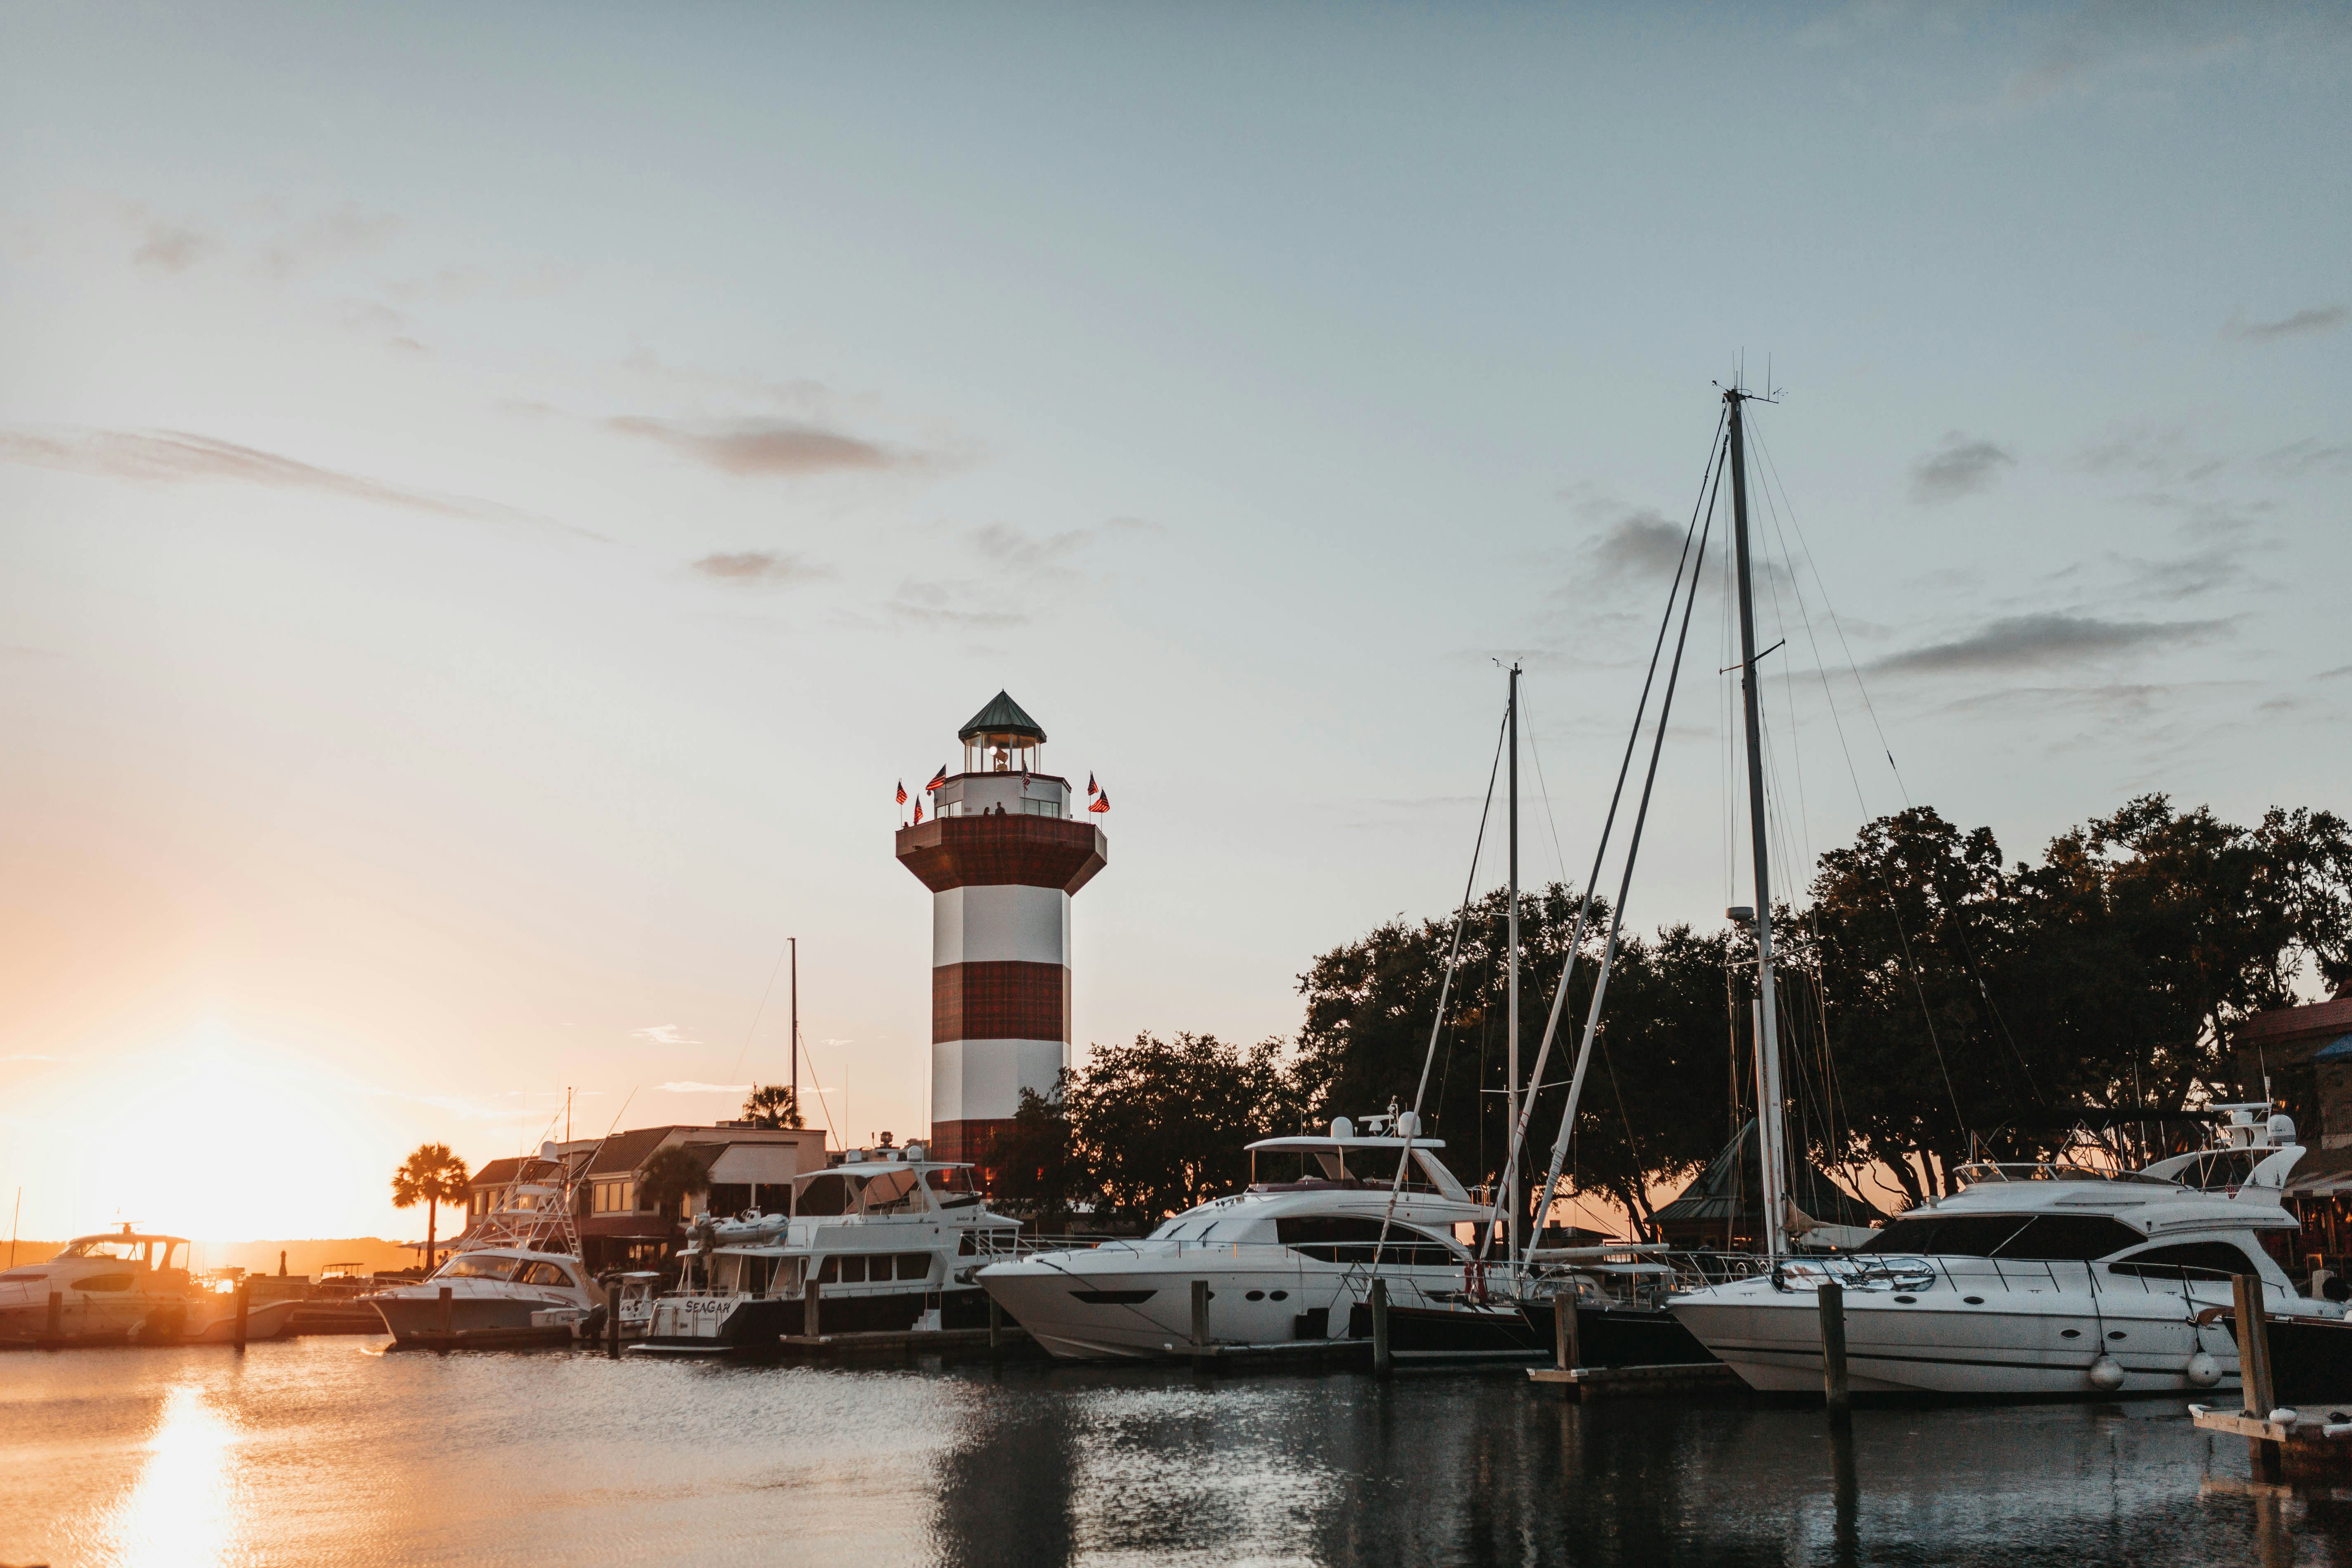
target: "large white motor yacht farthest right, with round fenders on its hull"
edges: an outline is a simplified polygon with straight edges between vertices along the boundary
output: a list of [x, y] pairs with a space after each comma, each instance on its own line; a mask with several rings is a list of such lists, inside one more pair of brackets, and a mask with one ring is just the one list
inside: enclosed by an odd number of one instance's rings
[[[1962, 1166], [1945, 1199], [1835, 1258], [1675, 1295], [1668, 1307], [1757, 1389], [1820, 1389], [1816, 1288], [1844, 1286], [1856, 1392], [2131, 1396], [2237, 1382], [2216, 1321], [2232, 1274], [2260, 1274], [2270, 1312], [2340, 1319], [2305, 1300], [2263, 1248], [2293, 1232], [2281, 1206], [2303, 1157], [2293, 1121], [2230, 1114], [2225, 1145], [2145, 1171]], [[2183, 1180], [2185, 1178], [2185, 1180]]]

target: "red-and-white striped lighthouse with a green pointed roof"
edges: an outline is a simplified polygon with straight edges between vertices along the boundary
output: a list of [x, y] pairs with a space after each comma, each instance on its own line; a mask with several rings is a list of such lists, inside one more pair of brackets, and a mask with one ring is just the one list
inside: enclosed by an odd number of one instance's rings
[[964, 771], [898, 830], [898, 863], [931, 889], [931, 1152], [985, 1168], [1021, 1091], [1051, 1093], [1070, 1065], [1070, 896], [1108, 846], [1009, 693], [957, 738]]

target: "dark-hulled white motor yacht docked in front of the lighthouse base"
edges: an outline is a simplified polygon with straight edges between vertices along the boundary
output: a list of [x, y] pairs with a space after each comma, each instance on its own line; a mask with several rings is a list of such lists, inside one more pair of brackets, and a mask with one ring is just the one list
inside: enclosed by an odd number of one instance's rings
[[823, 1333], [981, 1328], [988, 1298], [971, 1272], [1011, 1258], [1018, 1234], [974, 1192], [969, 1164], [922, 1143], [849, 1150], [793, 1178], [790, 1215], [699, 1220], [637, 1349], [771, 1352], [807, 1333], [811, 1284]]

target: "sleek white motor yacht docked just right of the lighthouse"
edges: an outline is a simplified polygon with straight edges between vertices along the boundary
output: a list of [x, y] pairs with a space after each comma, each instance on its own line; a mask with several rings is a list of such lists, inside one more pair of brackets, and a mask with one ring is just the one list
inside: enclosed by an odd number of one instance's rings
[[[1329, 1135], [1249, 1145], [1249, 1187], [1171, 1218], [1141, 1241], [1033, 1253], [978, 1279], [1051, 1354], [1112, 1361], [1192, 1347], [1192, 1281], [1209, 1286], [1211, 1345], [1371, 1333], [1371, 1279], [1388, 1281], [1397, 1356], [1526, 1354], [1517, 1307], [1489, 1307], [1456, 1225], [1494, 1220], [1414, 1135], [1414, 1112], [1345, 1119]], [[1399, 1159], [1402, 1190], [1390, 1197]], [[1385, 1246], [1383, 1246], [1385, 1232]], [[1378, 1253], [1378, 1267], [1374, 1255]]]

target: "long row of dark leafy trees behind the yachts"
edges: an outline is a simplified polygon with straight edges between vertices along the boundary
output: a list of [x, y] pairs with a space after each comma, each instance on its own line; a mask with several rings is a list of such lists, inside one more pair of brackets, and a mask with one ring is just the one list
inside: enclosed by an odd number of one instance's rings
[[[1470, 910], [1430, 1074], [1430, 1133], [1463, 1180], [1494, 1180], [1508, 1147], [1505, 922], [1501, 891]], [[1971, 1150], [2053, 1147], [2065, 1107], [2260, 1093], [2237, 1077], [2230, 1030], [2296, 1001], [2300, 980], [2352, 980], [2352, 830], [2307, 809], [2239, 827], [2147, 795], [2058, 835], [2039, 863], [2004, 865], [1990, 827], [1962, 832], [1919, 806], [1825, 853], [1806, 903], [1773, 922], [1790, 1133], [1830, 1171], [1891, 1173], [1915, 1204], [1947, 1190]], [[1524, 1065], [1573, 924], [1569, 886], [1522, 891]], [[1597, 898], [1536, 1105], [1536, 1180], [1606, 931]], [[1148, 1222], [1240, 1187], [1251, 1138], [1411, 1105], [1451, 936], [1451, 914], [1399, 919], [1317, 957], [1298, 980], [1296, 1041], [1141, 1034], [1098, 1048], [1056, 1098], [1023, 1098], [995, 1159], [1002, 1201], [1047, 1222], [1075, 1206]], [[1625, 933], [1571, 1192], [1646, 1225], [1649, 1187], [1729, 1140], [1755, 1100], [1752, 994], [1745, 929]], [[2314, 1114], [2307, 1081], [2274, 1091], [2298, 1121]]]

